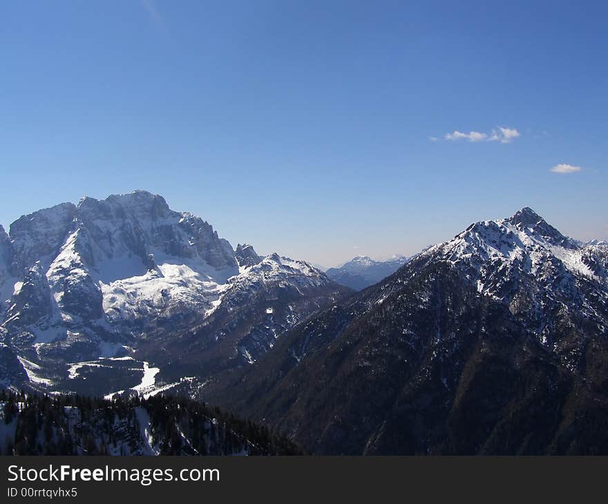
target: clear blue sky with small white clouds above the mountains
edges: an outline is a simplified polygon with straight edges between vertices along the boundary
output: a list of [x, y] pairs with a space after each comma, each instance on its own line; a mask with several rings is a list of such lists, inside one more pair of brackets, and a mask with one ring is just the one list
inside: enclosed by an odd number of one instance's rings
[[605, 1], [0, 1], [0, 223], [143, 188], [233, 246], [327, 266], [522, 206], [608, 238], [607, 19]]

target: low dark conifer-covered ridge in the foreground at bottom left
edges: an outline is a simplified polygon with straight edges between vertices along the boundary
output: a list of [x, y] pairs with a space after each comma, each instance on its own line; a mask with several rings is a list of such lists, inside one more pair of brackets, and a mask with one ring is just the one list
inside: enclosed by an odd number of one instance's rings
[[0, 391], [3, 455], [293, 455], [266, 427], [187, 398]]

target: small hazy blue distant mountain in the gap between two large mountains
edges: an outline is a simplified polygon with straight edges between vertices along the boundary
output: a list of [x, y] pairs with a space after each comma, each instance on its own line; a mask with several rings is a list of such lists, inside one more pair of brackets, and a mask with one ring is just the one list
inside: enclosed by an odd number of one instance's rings
[[386, 261], [375, 261], [368, 255], [357, 255], [339, 268], [330, 268], [325, 273], [334, 282], [361, 291], [392, 275], [408, 260], [405, 255], [396, 255]]

